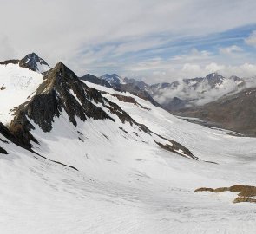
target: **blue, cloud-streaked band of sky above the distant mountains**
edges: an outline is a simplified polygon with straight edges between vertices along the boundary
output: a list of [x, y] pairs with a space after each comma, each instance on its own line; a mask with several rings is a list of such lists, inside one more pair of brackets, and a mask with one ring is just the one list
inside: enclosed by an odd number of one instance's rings
[[[248, 38], [253, 38], [254, 31], [256, 24], [203, 36], [152, 35], [135, 38], [131, 42], [124, 40], [97, 44], [82, 50], [80, 55], [95, 55], [96, 62], [90, 73], [119, 73], [143, 80], [148, 78], [149, 82], [154, 81], [156, 76], [165, 81], [207, 75], [214, 71], [223, 75], [251, 76], [256, 75], [256, 69], [245, 72], [246, 68], [240, 67], [256, 65], [256, 42], [247, 42]], [[211, 64], [213, 68], [209, 68]], [[186, 65], [192, 68], [181, 72]], [[194, 70], [193, 66], [200, 68]], [[169, 68], [173, 70], [167, 74]]]

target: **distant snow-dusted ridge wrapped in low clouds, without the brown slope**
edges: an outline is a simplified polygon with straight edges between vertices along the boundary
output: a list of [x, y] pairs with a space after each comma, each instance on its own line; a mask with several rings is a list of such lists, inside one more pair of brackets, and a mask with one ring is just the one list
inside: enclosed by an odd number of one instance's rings
[[211, 73], [206, 77], [196, 77], [148, 85], [144, 81], [121, 78], [119, 75], [102, 75], [101, 79], [108, 81], [115, 88], [123, 85], [138, 87], [146, 91], [155, 102], [160, 103], [168, 111], [178, 111], [184, 107], [196, 107], [214, 101], [226, 94], [233, 94], [251, 86], [249, 81], [238, 76], [224, 77]]

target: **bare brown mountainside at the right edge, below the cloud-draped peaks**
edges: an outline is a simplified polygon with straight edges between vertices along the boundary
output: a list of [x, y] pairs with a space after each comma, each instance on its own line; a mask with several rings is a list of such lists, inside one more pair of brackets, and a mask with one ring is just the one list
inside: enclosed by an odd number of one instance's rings
[[256, 136], [256, 88], [247, 88], [201, 107], [181, 109], [177, 114], [197, 117], [210, 125]]

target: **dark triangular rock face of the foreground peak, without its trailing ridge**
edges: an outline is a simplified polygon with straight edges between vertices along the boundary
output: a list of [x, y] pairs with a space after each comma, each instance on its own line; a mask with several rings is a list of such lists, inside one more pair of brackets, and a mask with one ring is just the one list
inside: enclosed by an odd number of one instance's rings
[[87, 118], [111, 120], [94, 102], [104, 103], [102, 95], [94, 88], [87, 87], [73, 71], [59, 62], [44, 74], [44, 81], [31, 100], [16, 107], [16, 117], [10, 123], [10, 132], [23, 145], [30, 146], [30, 140], [37, 142], [30, 133], [35, 128], [30, 120], [44, 132], [51, 131], [54, 118], [62, 112], [68, 114], [69, 121], [75, 126], [75, 117], [82, 121]]

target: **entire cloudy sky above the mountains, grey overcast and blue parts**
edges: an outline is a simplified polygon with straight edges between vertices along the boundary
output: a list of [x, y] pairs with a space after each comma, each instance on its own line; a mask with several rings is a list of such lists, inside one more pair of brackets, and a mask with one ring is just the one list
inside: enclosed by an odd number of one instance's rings
[[255, 10], [254, 0], [3, 1], [0, 59], [35, 51], [78, 75], [149, 83], [213, 71], [256, 76]]

